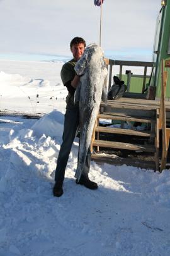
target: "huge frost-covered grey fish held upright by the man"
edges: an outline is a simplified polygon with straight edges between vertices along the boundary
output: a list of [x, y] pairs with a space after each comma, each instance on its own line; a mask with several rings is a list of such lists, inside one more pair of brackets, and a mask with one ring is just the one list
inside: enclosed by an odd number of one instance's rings
[[82, 75], [80, 88], [77, 88], [79, 90], [80, 142], [75, 177], [79, 181], [91, 144], [101, 96], [103, 96], [103, 101], [106, 100], [104, 80], [107, 69], [101, 47], [96, 44], [86, 47], [81, 59], [76, 63], [75, 70], [77, 75]]

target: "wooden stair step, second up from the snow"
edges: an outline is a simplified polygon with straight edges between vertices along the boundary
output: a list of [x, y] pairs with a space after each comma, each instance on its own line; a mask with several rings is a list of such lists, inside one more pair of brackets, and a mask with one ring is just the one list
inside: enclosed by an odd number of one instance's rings
[[93, 146], [110, 147], [112, 149], [127, 149], [144, 152], [156, 152], [154, 145], [139, 145], [124, 142], [110, 142], [105, 140], [94, 140]]

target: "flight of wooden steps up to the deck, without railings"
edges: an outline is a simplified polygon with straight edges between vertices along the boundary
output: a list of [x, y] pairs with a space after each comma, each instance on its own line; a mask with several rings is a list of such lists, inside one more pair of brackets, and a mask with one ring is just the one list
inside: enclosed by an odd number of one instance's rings
[[[101, 103], [91, 143], [92, 160], [159, 170], [159, 104], [144, 99], [121, 99]], [[122, 126], [103, 126], [101, 119]], [[123, 123], [145, 123], [146, 130], [123, 128]], [[114, 151], [113, 151], [114, 149]], [[117, 152], [123, 152], [118, 155]]]

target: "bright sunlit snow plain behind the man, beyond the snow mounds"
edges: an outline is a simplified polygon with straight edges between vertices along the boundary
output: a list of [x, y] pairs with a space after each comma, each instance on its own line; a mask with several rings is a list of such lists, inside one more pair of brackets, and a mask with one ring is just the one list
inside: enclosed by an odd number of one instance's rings
[[27, 113], [65, 109], [62, 64], [0, 60], [0, 109]]

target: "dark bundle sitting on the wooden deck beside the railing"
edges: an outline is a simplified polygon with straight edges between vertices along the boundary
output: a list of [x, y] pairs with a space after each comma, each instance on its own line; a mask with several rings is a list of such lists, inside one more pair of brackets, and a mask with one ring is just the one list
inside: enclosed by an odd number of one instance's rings
[[126, 92], [127, 85], [124, 84], [124, 81], [120, 81], [118, 76], [113, 76], [113, 81], [114, 84], [111, 85], [110, 90], [108, 91], [108, 99], [120, 99]]

